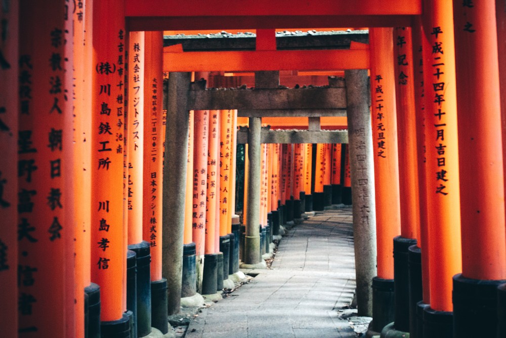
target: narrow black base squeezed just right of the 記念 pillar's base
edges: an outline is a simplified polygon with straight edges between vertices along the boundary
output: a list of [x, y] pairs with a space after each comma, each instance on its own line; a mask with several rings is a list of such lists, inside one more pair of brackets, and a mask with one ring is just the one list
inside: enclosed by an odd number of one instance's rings
[[421, 250], [416, 245], [408, 248], [409, 269], [409, 332], [412, 338], [421, 338], [416, 329], [416, 304], [423, 299], [421, 284]]

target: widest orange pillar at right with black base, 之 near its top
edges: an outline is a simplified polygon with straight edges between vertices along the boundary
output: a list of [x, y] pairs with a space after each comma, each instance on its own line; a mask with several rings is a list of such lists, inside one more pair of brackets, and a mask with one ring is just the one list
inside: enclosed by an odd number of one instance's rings
[[496, 336], [496, 325], [483, 327], [483, 320], [487, 310], [495, 313], [497, 300], [485, 307], [463, 301], [469, 289], [483, 294], [506, 279], [495, 4], [453, 5], [459, 171], [470, 178], [460, 180], [462, 274], [453, 277], [454, 334]]

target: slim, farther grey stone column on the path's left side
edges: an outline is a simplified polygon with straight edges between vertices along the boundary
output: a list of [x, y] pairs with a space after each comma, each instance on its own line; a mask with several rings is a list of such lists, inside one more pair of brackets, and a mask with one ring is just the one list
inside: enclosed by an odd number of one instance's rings
[[246, 210], [245, 264], [260, 262], [260, 131], [262, 118], [249, 118], [248, 131], [248, 207]]

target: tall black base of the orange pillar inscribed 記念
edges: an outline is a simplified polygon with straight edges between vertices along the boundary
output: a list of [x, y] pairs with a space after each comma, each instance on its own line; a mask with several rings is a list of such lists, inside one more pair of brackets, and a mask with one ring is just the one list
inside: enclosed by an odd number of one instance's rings
[[394, 238], [395, 324], [398, 331], [409, 332], [409, 267], [408, 258], [412, 238]]

